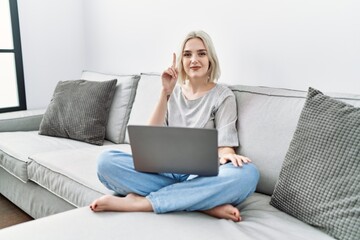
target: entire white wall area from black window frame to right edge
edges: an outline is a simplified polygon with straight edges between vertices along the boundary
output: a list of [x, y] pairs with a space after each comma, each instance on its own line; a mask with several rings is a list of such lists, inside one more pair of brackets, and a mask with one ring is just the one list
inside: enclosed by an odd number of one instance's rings
[[83, 69], [161, 72], [183, 36], [213, 38], [221, 82], [360, 93], [357, 0], [18, 0], [28, 108]]

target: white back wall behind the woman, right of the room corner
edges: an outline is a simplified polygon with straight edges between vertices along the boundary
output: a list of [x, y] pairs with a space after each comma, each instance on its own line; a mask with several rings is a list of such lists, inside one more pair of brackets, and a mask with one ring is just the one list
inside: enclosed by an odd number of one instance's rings
[[88, 0], [85, 10], [88, 69], [160, 72], [203, 29], [222, 82], [360, 93], [356, 0]]

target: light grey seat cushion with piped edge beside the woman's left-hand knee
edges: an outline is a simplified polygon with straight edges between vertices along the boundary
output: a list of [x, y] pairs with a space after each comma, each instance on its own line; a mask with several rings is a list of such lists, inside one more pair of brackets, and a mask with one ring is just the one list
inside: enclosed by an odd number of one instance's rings
[[29, 179], [75, 207], [88, 206], [113, 194], [97, 178], [97, 156], [106, 149], [131, 152], [130, 145], [119, 144], [34, 154], [29, 157]]

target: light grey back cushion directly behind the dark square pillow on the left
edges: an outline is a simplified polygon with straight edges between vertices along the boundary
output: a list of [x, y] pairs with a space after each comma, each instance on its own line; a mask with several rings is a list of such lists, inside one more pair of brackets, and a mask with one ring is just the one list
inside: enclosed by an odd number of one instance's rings
[[83, 71], [81, 79], [92, 81], [117, 79], [115, 94], [106, 125], [105, 139], [112, 141], [113, 143], [123, 143], [126, 125], [129, 120], [140, 75], [113, 75]]

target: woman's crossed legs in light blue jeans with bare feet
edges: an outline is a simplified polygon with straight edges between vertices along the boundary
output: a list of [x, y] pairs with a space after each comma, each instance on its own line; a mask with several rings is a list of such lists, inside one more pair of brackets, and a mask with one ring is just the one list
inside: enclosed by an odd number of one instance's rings
[[132, 157], [120, 151], [107, 151], [99, 158], [98, 175], [109, 189], [125, 197], [106, 195], [95, 200], [95, 211], [201, 211], [217, 218], [240, 221], [233, 205], [255, 191], [259, 178], [253, 164], [242, 168], [231, 163], [220, 167], [215, 177], [181, 174], [148, 174], [134, 170]]

